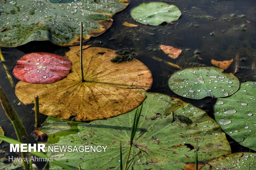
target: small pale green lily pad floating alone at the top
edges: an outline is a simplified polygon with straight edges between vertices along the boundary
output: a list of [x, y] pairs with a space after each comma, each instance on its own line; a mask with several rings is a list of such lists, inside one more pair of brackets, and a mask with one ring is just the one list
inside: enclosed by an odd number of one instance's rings
[[163, 22], [171, 23], [180, 18], [178, 7], [164, 2], [142, 3], [131, 11], [131, 16], [139, 23], [158, 26]]

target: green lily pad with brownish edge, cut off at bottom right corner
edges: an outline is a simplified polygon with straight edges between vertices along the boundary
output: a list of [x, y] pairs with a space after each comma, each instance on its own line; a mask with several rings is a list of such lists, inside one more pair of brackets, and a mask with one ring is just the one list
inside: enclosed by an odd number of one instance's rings
[[250, 152], [239, 152], [220, 156], [200, 170], [255, 170], [256, 154]]

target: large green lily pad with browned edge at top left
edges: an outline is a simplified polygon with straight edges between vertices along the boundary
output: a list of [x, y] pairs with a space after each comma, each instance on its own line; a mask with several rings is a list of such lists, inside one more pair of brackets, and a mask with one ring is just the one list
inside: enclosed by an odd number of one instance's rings
[[0, 46], [45, 40], [60, 46], [76, 45], [81, 21], [86, 42], [104, 33], [113, 22], [112, 16], [128, 4], [129, 0], [0, 1]]

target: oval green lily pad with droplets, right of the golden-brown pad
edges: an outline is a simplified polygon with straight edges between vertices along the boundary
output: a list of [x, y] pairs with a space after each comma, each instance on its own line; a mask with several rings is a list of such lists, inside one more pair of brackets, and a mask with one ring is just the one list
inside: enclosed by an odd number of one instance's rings
[[239, 88], [239, 80], [231, 73], [214, 67], [187, 68], [175, 72], [168, 81], [171, 90], [185, 98], [227, 97]]

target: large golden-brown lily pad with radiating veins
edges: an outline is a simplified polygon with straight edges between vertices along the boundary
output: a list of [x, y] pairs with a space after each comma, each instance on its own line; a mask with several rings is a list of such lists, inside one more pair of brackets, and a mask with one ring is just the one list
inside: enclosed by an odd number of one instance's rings
[[15, 93], [25, 105], [40, 98], [40, 113], [60, 119], [91, 121], [129, 112], [145, 100], [142, 91], [151, 87], [152, 75], [147, 66], [133, 59], [113, 63], [112, 49], [83, 47], [81, 82], [80, 47], [70, 47], [66, 57], [73, 63], [66, 78], [52, 84], [18, 82]]

